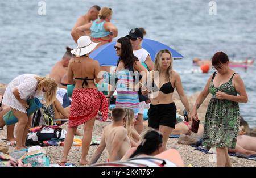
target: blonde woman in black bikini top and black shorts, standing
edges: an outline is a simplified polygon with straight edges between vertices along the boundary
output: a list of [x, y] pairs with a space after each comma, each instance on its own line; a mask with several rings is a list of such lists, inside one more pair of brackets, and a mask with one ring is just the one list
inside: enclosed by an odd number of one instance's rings
[[[163, 133], [163, 146], [166, 148], [166, 143], [172, 130], [176, 124], [176, 106], [172, 95], [176, 88], [180, 100], [185, 109], [189, 112], [189, 103], [187, 96], [184, 93], [181, 79], [178, 73], [172, 70], [172, 54], [169, 50], [160, 50], [155, 57], [154, 70], [152, 76], [152, 87], [159, 88], [154, 90], [150, 95], [150, 109], [148, 109], [148, 126], [158, 129]], [[143, 95], [148, 95], [148, 91], [143, 92]]]

